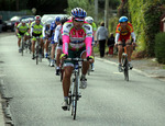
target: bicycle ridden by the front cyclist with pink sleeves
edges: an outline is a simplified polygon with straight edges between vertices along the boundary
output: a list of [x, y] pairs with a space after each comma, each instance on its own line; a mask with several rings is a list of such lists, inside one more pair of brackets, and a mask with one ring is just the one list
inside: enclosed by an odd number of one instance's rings
[[65, 60], [72, 60], [75, 61], [74, 64], [74, 77], [73, 77], [73, 84], [70, 85], [69, 89], [69, 94], [68, 94], [68, 111], [70, 110], [72, 106], [72, 116], [74, 119], [76, 119], [76, 113], [77, 113], [77, 101], [79, 98], [81, 98], [80, 92], [79, 92], [79, 72], [81, 69], [80, 62], [81, 61], [87, 61], [87, 59], [81, 59], [81, 58], [67, 58]]

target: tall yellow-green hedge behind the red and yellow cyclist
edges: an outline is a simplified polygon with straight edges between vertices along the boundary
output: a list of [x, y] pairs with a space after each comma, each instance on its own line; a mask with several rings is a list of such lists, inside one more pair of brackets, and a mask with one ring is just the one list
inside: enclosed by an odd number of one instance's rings
[[154, 56], [155, 34], [160, 32], [161, 0], [129, 0], [129, 13], [139, 42], [138, 50]]

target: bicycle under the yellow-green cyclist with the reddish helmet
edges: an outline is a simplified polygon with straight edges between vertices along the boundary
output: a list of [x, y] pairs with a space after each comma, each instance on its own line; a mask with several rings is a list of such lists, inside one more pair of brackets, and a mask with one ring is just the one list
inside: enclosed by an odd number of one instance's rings
[[40, 46], [40, 36], [36, 36], [36, 49], [35, 49], [35, 56], [36, 56], [36, 65], [38, 65], [38, 58], [40, 61], [42, 62], [42, 48]]

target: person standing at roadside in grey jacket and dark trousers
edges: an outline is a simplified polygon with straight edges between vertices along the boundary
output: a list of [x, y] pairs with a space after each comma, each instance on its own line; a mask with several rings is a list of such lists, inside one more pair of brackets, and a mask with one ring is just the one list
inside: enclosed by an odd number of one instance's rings
[[105, 57], [106, 39], [108, 38], [108, 30], [105, 27], [105, 23], [100, 23], [101, 26], [97, 30], [97, 43], [99, 43], [100, 57]]

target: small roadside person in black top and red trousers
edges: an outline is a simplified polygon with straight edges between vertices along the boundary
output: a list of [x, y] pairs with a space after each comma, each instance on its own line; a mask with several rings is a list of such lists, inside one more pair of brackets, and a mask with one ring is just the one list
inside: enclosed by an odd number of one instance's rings
[[114, 47], [114, 36], [113, 33], [110, 34], [110, 37], [108, 38], [108, 47], [109, 47], [109, 55], [113, 56], [113, 47]]

